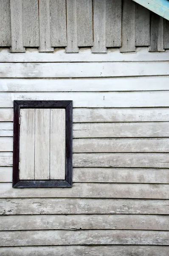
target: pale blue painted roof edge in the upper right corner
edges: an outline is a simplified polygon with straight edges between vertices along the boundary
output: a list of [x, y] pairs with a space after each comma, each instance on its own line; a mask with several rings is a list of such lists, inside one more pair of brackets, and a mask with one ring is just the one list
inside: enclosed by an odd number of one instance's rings
[[133, 0], [141, 6], [169, 20], [169, 1], [168, 0]]

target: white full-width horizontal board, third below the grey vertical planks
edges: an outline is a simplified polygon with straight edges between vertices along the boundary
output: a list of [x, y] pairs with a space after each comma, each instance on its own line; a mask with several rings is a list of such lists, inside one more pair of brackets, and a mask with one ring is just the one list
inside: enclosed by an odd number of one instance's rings
[[169, 90], [169, 76], [91, 79], [1, 79], [0, 90], [1, 92], [158, 91]]

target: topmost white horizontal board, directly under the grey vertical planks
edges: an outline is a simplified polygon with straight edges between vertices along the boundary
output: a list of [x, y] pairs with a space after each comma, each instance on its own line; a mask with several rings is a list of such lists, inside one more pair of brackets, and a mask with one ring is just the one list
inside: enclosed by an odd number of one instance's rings
[[107, 49], [107, 54], [93, 54], [91, 49], [79, 49], [79, 53], [65, 53], [58, 48], [50, 54], [27, 48], [24, 53], [10, 54], [7, 49], [1, 49], [1, 62], [95, 62], [95, 61], [168, 61], [169, 50], [165, 52], [148, 52], [147, 47], [137, 47], [134, 53], [121, 53], [119, 49]]

